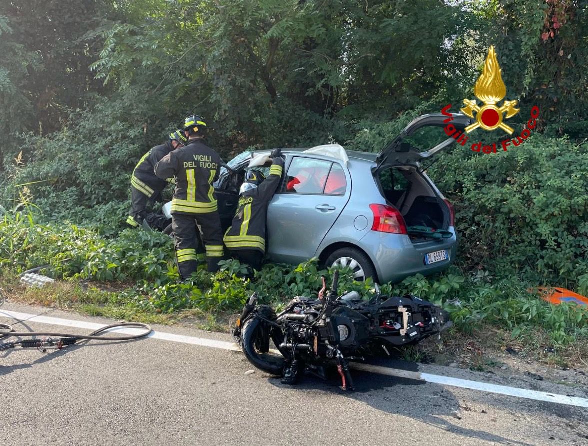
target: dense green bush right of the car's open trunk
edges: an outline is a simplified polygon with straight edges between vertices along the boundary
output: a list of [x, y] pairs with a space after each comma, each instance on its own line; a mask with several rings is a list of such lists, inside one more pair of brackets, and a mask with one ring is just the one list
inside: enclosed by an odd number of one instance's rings
[[588, 145], [535, 135], [496, 155], [457, 147], [431, 175], [453, 202], [460, 261], [573, 287], [588, 272]]

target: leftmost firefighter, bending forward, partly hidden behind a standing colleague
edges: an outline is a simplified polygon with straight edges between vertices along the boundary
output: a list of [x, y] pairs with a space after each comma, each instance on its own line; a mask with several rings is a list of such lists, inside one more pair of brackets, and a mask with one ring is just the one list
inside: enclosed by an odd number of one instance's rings
[[126, 219], [131, 227], [137, 228], [143, 223], [147, 212], [147, 202], [154, 202], [159, 198], [161, 191], [168, 184], [168, 181], [156, 177], [153, 168], [165, 155], [178, 147], [183, 147], [186, 142], [188, 139], [184, 132], [176, 130], [169, 135], [169, 141], [153, 147], [137, 163], [131, 177], [131, 212]]

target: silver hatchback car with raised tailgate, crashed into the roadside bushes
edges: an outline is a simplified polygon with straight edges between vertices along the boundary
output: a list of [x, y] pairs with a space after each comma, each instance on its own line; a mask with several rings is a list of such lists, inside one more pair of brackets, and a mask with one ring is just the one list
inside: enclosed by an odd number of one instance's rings
[[[455, 142], [440, 114], [416, 118], [379, 154], [345, 151], [339, 145], [283, 149], [282, 182], [268, 208], [267, 255], [298, 265], [318, 257], [322, 265], [353, 270], [355, 278], [397, 282], [412, 274], [435, 274], [454, 260], [453, 208], [420, 169], [420, 162]], [[453, 115], [464, 128], [469, 118]], [[420, 151], [410, 142], [419, 129], [442, 135]], [[223, 227], [228, 228], [246, 169], [263, 172], [269, 151], [245, 152], [222, 169], [215, 184]], [[411, 233], [407, 227], [445, 232], [447, 238]], [[450, 234], [448, 234], [450, 233]]]

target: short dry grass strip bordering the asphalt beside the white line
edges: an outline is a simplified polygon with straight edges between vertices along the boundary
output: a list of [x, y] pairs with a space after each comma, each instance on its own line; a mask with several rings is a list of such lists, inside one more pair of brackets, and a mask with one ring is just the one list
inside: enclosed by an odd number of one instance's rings
[[[12, 302], [42, 305], [82, 314], [134, 321], [146, 324], [182, 325], [205, 331], [228, 331], [230, 315], [224, 312], [204, 312], [199, 309], [157, 312], [158, 309], [142, 309], [121, 297], [132, 288], [125, 282], [74, 282], [58, 281], [44, 288], [28, 288], [19, 283], [18, 275], [5, 272], [2, 288]], [[533, 361], [557, 368], [587, 367], [588, 343], [582, 340], [565, 346], [552, 347], [549, 333], [541, 328], [525, 329], [513, 338], [512, 331], [489, 324], [482, 324], [471, 332], [453, 328], [442, 335], [439, 342], [430, 338], [417, 347], [403, 347], [396, 354], [408, 362], [434, 362], [449, 365], [457, 362], [460, 367], [476, 371], [489, 371], [502, 367], [499, 358], [509, 358], [507, 348], [517, 352], [517, 359]]]

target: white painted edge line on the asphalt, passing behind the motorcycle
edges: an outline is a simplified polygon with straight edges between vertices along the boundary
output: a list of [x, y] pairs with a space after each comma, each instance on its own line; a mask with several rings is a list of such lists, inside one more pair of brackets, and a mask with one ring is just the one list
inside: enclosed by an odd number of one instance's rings
[[[38, 324], [59, 325], [61, 327], [85, 328], [95, 331], [106, 325], [95, 324], [93, 322], [74, 321], [71, 319], [52, 318], [48, 316], [37, 316], [34, 314], [19, 313], [15, 311], [0, 311], [0, 317], [10, 317], [19, 321], [36, 322]], [[16, 330], [18, 331], [18, 329]], [[125, 334], [139, 334], [142, 332], [138, 328], [116, 329], [117, 332]], [[183, 336], [171, 333], [153, 331], [149, 338], [159, 339], [162, 341], [181, 342], [182, 344], [200, 345], [202, 347], [219, 348], [221, 350], [240, 351], [240, 348], [232, 342], [216, 341], [206, 338], [196, 338], [193, 336]], [[534, 390], [519, 389], [516, 387], [506, 387], [504, 385], [487, 384], [486, 382], [460, 380], [459, 378], [443, 377], [440, 375], [430, 375], [427, 373], [411, 372], [406, 370], [378, 367], [368, 364], [352, 364], [355, 370], [377, 373], [397, 378], [406, 378], [409, 380], [425, 381], [432, 384], [448, 385], [451, 387], [460, 387], [464, 389], [477, 390], [509, 397], [526, 398], [527, 400], [546, 401], [556, 404], [565, 404], [575, 407], [588, 408], [588, 398], [567, 397], [566, 395], [550, 394], [547, 392], [538, 392]]]

